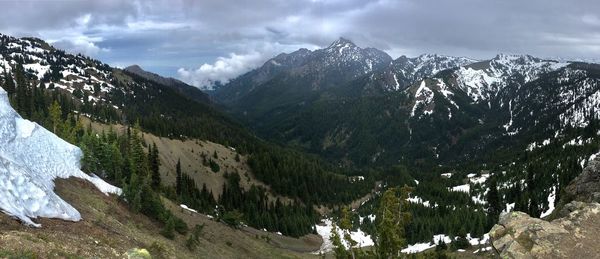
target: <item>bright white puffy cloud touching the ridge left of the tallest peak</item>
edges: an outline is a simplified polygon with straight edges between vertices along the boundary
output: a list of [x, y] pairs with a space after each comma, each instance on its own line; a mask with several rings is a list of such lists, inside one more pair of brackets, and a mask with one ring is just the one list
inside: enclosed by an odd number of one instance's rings
[[212, 89], [215, 82], [227, 83], [231, 78], [246, 73], [265, 62], [265, 55], [252, 51], [247, 54], [231, 53], [219, 57], [213, 64], [203, 64], [198, 69], [180, 68], [177, 74], [182, 81], [203, 89]]

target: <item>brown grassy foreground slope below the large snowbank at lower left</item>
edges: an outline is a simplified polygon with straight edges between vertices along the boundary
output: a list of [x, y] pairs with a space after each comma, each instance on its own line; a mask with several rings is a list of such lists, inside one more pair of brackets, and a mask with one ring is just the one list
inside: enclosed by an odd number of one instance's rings
[[[38, 258], [126, 258], [133, 248], [146, 248], [155, 258], [311, 258], [296, 251], [318, 249], [320, 240], [273, 237], [267, 242], [258, 230], [235, 230], [202, 215], [183, 212], [166, 202], [190, 226], [206, 224], [200, 246], [189, 251], [186, 237], [163, 238], [160, 226], [141, 214], [132, 214], [117, 197], [105, 196], [91, 184], [77, 180], [57, 180], [56, 192], [81, 213], [80, 222], [39, 219], [42, 228], [23, 226], [0, 214], [0, 258], [26, 255]], [[264, 234], [267, 235], [267, 234]]]

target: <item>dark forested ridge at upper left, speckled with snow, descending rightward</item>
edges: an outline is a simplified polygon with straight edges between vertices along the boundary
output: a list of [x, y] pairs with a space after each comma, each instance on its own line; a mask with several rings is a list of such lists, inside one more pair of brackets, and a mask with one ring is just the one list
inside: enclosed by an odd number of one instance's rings
[[[22, 67], [32, 87], [66, 94], [71, 109], [93, 119], [131, 124], [139, 121], [143, 128], [161, 136], [197, 137], [244, 147], [253, 138], [208, 102], [196, 101], [196, 94], [191, 96], [195, 99], [180, 94], [187, 87], [163, 85], [154, 77], [149, 80], [97, 60], [71, 55], [39, 39], [0, 35], [0, 43], [3, 81], [14, 78], [16, 70]], [[9, 94], [19, 89], [15, 84], [8, 88]], [[197, 95], [205, 99], [204, 94]]]

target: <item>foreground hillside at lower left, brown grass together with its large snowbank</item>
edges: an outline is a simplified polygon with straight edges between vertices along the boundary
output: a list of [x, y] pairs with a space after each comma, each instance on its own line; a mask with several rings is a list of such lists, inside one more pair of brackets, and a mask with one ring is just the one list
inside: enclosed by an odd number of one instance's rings
[[[249, 227], [236, 229], [164, 200], [170, 213], [190, 226], [202, 226], [192, 249], [186, 243], [192, 233], [165, 238], [156, 218], [130, 207], [132, 199], [109, 196], [120, 195], [121, 189], [83, 173], [82, 150], [21, 118], [3, 89], [0, 125], [2, 257], [128, 258], [136, 251], [144, 253], [139, 250], [144, 248], [157, 258], [311, 258], [307, 252], [319, 248], [315, 235], [295, 239]], [[9, 216], [41, 228], [29, 228]]]

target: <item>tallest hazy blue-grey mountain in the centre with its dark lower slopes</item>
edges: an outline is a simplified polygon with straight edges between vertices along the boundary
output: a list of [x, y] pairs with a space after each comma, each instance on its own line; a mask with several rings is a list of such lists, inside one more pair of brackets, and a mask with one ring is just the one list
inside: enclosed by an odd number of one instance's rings
[[440, 55], [391, 60], [340, 39], [314, 52], [281, 54], [213, 95], [261, 136], [344, 163], [389, 164], [403, 155], [386, 145], [405, 145], [410, 133], [404, 112], [410, 104], [402, 91], [472, 62]]

